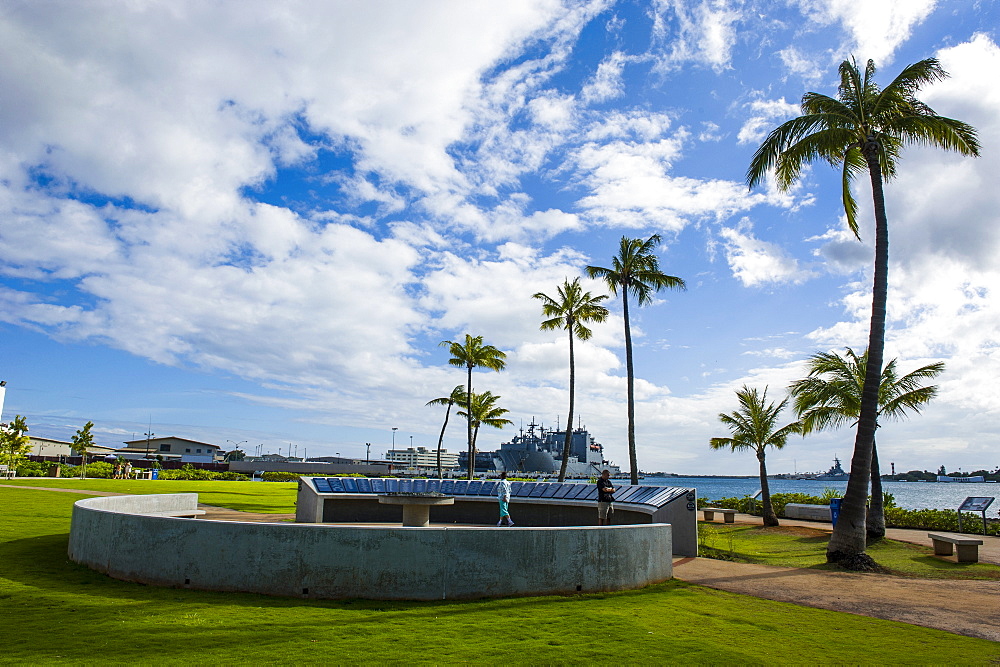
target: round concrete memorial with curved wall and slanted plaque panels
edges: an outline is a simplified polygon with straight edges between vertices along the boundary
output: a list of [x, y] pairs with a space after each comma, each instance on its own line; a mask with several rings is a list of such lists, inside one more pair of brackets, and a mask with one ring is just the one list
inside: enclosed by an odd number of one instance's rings
[[623, 485], [616, 525], [595, 526], [593, 484], [512, 486], [513, 528], [480, 480], [302, 478], [295, 523], [194, 519], [194, 493], [88, 498], [69, 556], [166, 587], [442, 600], [639, 588], [697, 554], [694, 489]]

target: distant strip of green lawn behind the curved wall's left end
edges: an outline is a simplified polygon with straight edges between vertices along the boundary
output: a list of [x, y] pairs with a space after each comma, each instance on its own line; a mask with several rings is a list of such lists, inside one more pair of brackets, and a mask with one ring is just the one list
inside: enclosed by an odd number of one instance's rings
[[[8, 482], [4, 482], [5, 484]], [[241, 512], [294, 514], [296, 482], [184, 482], [150, 479], [53, 479], [23, 477], [10, 484], [115, 493], [197, 493], [198, 501]]]

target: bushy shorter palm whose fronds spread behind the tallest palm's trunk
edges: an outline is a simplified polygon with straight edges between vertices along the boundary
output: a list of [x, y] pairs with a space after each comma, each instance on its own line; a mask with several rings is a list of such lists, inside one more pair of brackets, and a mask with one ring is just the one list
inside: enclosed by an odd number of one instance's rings
[[[834, 352], [819, 352], [809, 357], [809, 374], [789, 387], [794, 408], [802, 421], [802, 433], [854, 425], [861, 414], [861, 392], [865, 380], [868, 353], [858, 355], [851, 348], [841, 356]], [[923, 381], [944, 371], [944, 362], [921, 366], [899, 377], [896, 360], [882, 369], [878, 390], [878, 421], [883, 418], [901, 420], [908, 413], [919, 413], [937, 395], [937, 386], [924, 386]], [[865, 530], [871, 541], [885, 537], [885, 512], [882, 505], [882, 475], [878, 465], [878, 448], [872, 440], [871, 504], [865, 519]]]

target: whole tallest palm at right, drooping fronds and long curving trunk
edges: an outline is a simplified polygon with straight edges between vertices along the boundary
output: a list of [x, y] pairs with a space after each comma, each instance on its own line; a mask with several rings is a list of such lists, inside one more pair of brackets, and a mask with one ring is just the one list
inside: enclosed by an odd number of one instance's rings
[[865, 501], [878, 417], [878, 384], [885, 343], [885, 312], [889, 271], [889, 226], [882, 183], [896, 174], [904, 146], [922, 144], [979, 155], [975, 129], [938, 116], [916, 98], [920, 87], [947, 77], [934, 58], [908, 65], [885, 88], [875, 83], [875, 63], [864, 74], [853, 60], [840, 64], [840, 86], [834, 99], [819, 93], [802, 97], [802, 115], [778, 126], [761, 144], [747, 169], [753, 188], [774, 170], [779, 188], [787, 190], [814, 160], [843, 168], [842, 197], [847, 224], [858, 235], [857, 203], [851, 181], [867, 169], [875, 207], [875, 273], [872, 317], [868, 332], [868, 365], [858, 430], [851, 459], [851, 478], [840, 519], [827, 546], [827, 560], [848, 567], [868, 568], [865, 554]]

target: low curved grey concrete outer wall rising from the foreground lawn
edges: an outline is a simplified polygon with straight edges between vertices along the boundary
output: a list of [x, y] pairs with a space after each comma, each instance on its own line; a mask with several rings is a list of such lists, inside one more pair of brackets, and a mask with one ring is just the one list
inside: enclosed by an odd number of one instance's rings
[[668, 524], [387, 528], [142, 515], [196, 506], [196, 494], [80, 500], [70, 559], [126, 581], [319, 598], [597, 592], [672, 576]]

